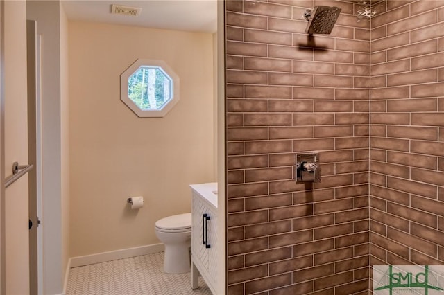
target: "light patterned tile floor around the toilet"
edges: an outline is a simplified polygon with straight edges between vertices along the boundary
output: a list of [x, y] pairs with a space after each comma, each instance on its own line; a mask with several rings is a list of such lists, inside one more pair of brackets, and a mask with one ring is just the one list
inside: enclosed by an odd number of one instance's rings
[[212, 295], [199, 277], [191, 289], [191, 273], [164, 274], [164, 252], [74, 267], [69, 271], [67, 295]]

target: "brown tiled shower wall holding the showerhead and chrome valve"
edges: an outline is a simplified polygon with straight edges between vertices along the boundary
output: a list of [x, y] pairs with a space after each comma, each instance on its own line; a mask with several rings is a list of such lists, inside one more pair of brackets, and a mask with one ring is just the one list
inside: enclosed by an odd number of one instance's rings
[[[314, 5], [342, 8], [331, 35], [305, 34]], [[228, 294], [368, 293], [370, 22], [358, 8], [226, 1]], [[296, 184], [295, 156], [312, 151], [322, 181]]]

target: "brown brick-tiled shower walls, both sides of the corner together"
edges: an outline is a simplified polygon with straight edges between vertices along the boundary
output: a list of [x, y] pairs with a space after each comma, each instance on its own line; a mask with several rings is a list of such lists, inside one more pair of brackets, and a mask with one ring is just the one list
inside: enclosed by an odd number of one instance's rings
[[[228, 294], [370, 294], [444, 262], [444, 0], [225, 2]], [[342, 8], [331, 35], [302, 14]], [[370, 29], [371, 26], [371, 29]], [[296, 184], [319, 152], [320, 184]]]

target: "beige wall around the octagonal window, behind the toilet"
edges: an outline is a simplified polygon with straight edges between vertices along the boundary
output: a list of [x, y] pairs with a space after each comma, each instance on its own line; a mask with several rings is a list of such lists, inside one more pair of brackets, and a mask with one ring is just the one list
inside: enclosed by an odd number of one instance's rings
[[[137, 58], [167, 62], [180, 101], [138, 118], [120, 100]], [[189, 212], [189, 184], [214, 181], [212, 35], [69, 22], [71, 256], [156, 244], [161, 217]], [[142, 195], [139, 211], [126, 199]]]

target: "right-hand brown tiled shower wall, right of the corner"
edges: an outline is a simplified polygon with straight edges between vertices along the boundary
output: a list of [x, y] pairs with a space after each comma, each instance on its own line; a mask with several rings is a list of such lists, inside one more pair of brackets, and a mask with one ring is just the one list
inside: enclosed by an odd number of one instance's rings
[[372, 20], [371, 264], [444, 264], [444, 1]]

